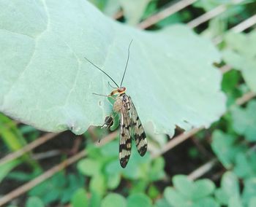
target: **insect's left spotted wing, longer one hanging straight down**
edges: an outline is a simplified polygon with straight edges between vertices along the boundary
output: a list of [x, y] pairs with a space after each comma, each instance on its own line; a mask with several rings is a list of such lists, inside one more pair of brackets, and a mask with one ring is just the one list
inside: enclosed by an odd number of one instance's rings
[[129, 161], [129, 155], [131, 155], [132, 149], [131, 119], [129, 117], [129, 106], [125, 102], [122, 103], [120, 122], [119, 161], [121, 167], [125, 168]]

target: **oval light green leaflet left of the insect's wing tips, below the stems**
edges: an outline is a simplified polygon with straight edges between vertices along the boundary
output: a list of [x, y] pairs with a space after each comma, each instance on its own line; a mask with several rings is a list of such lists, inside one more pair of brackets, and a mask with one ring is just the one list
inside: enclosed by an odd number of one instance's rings
[[96, 176], [100, 173], [101, 167], [99, 162], [89, 158], [78, 162], [78, 170], [86, 176]]

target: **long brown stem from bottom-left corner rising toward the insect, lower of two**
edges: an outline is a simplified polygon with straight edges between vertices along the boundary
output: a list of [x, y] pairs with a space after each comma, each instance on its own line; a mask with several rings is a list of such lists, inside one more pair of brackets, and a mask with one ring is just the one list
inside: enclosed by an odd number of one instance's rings
[[[110, 133], [108, 136], [104, 138], [104, 141], [97, 144], [99, 147], [107, 144], [111, 140], [116, 138], [116, 132]], [[12, 190], [7, 195], [4, 195], [0, 198], [0, 206], [3, 206], [4, 204], [10, 202], [10, 200], [17, 198], [20, 195], [23, 195], [23, 193], [31, 190], [31, 188], [37, 186], [38, 184], [42, 183], [42, 181], [45, 181], [46, 179], [49, 179], [54, 174], [58, 173], [59, 171], [63, 170], [64, 168], [67, 168], [67, 166], [77, 162], [82, 157], [85, 157], [87, 155], [86, 150], [80, 151], [78, 154], [69, 157], [67, 160], [64, 160], [62, 163], [59, 163], [59, 165], [54, 166], [53, 168], [50, 168], [50, 170], [45, 171], [45, 173], [42, 173], [42, 175], [37, 176], [37, 178], [27, 182], [26, 184], [23, 184], [22, 186], [16, 188], [15, 190]]]

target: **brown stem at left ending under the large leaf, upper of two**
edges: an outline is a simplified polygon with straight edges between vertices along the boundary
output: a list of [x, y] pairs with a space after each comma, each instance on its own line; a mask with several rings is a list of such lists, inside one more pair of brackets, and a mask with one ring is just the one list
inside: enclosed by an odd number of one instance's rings
[[19, 149], [18, 151], [13, 152], [12, 154], [2, 158], [0, 160], [0, 166], [4, 165], [4, 163], [10, 162], [11, 160], [15, 160], [16, 158], [24, 155], [26, 152], [31, 151], [35, 147], [38, 147], [40, 144], [43, 144], [46, 141], [49, 141], [50, 139], [55, 138], [58, 135], [59, 133], [46, 133], [45, 135], [37, 138], [35, 141], [32, 141], [31, 143], [27, 144], [25, 147]]

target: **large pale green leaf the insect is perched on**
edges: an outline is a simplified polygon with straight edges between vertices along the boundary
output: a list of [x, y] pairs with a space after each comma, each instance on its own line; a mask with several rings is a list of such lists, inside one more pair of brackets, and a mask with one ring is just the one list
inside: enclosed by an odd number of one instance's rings
[[0, 111], [42, 130], [83, 133], [101, 125], [133, 39], [124, 86], [143, 123], [173, 134], [211, 125], [225, 112], [214, 45], [186, 26], [140, 31], [105, 17], [88, 1], [0, 3]]

